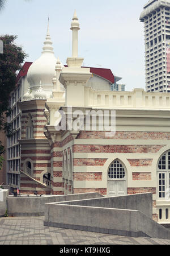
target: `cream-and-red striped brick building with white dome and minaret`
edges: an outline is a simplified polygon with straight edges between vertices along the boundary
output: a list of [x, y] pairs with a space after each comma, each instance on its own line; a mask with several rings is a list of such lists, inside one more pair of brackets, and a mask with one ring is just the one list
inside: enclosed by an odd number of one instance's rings
[[19, 73], [24, 89], [11, 102], [18, 102], [11, 120], [17, 126], [19, 118], [19, 133], [8, 142], [8, 184], [38, 195], [151, 192], [154, 220], [168, 223], [169, 93], [113, 90], [110, 69], [82, 67], [79, 29], [75, 12], [67, 65], [54, 56], [48, 29], [40, 58]]

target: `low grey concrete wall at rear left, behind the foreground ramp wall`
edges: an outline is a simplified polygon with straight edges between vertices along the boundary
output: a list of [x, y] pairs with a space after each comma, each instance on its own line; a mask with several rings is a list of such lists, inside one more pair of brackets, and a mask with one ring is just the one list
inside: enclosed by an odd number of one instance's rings
[[63, 196], [7, 197], [8, 216], [44, 216], [45, 204], [103, 197], [99, 193], [82, 193]]

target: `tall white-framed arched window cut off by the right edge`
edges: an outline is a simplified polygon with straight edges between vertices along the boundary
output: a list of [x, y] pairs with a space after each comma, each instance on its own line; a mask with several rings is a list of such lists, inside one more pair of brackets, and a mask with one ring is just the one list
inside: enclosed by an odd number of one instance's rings
[[158, 197], [170, 198], [170, 151], [165, 152], [158, 161]]

